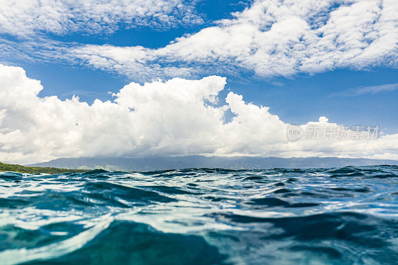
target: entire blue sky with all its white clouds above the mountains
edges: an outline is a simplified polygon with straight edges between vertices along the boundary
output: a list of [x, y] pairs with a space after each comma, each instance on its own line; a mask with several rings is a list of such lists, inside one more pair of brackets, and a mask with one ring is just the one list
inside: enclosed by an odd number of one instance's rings
[[397, 66], [396, 0], [0, 0], [0, 161], [398, 159]]

